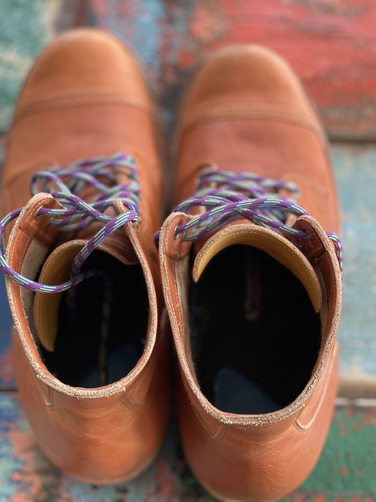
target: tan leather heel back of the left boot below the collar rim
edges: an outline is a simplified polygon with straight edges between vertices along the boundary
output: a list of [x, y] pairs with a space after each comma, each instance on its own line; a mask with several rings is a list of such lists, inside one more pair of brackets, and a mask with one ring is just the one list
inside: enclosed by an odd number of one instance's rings
[[[26, 416], [40, 447], [60, 469], [80, 480], [110, 483], [133, 477], [155, 456], [167, 417], [150, 421], [154, 392], [137, 406], [133, 401], [124, 406], [129, 401], [124, 390], [108, 397], [67, 395], [38, 378], [17, 334], [13, 356]], [[141, 435], [145, 440], [134, 442]]]

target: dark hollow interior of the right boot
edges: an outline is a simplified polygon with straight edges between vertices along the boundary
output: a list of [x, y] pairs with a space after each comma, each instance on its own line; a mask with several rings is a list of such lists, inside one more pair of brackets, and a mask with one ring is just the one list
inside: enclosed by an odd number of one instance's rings
[[299, 396], [317, 360], [321, 323], [286, 267], [260, 249], [232, 245], [209, 262], [190, 296], [196, 375], [216, 408], [270, 413]]

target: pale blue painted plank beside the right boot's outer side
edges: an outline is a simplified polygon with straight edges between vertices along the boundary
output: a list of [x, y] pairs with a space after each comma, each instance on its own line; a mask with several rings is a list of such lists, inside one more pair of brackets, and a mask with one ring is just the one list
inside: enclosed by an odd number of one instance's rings
[[376, 378], [376, 149], [334, 147], [343, 244], [340, 371]]

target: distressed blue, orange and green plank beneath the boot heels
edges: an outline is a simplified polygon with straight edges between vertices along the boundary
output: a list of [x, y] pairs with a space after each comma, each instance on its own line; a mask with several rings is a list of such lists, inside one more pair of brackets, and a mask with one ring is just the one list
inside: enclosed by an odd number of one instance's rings
[[[283, 502], [371, 502], [376, 499], [376, 409], [337, 408], [315, 469]], [[127, 483], [93, 486], [54, 467], [36, 444], [18, 397], [0, 394], [1, 502], [215, 502], [182, 457], [175, 421], [143, 474]]]

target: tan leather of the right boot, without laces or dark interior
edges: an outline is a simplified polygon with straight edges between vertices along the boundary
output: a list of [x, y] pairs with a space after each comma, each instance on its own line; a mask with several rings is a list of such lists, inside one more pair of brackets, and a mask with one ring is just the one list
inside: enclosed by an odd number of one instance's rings
[[[171, 214], [159, 241], [163, 292], [178, 356], [178, 414], [186, 458], [201, 483], [221, 500], [272, 500], [296, 488], [312, 469], [337, 386], [341, 275], [323, 229], [338, 230], [338, 210], [323, 133], [289, 67], [266, 49], [238, 46], [220, 51], [199, 71], [183, 101], [176, 138], [175, 202], [192, 195], [209, 163], [295, 181], [301, 190], [298, 203], [311, 215], [294, 225], [311, 234], [311, 240], [301, 243], [316, 275], [313, 284], [321, 288], [321, 349], [311, 379], [295, 401], [260, 416], [223, 413], [201, 393], [188, 341], [187, 305], [187, 285], [198, 270], [189, 266], [191, 244], [182, 234], [174, 236], [176, 225], [189, 216]], [[236, 226], [250, 233], [253, 225], [242, 220]], [[231, 227], [218, 231], [206, 244], [203, 239], [202, 252], [193, 247], [194, 255], [199, 253], [196, 268], [229, 232]], [[276, 258], [278, 247], [273, 249]]]

